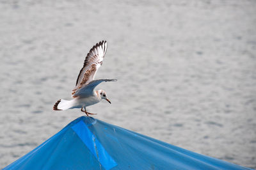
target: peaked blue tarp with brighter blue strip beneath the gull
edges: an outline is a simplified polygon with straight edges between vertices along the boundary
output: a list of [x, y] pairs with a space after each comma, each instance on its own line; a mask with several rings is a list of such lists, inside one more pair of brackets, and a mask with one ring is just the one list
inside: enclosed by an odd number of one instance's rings
[[248, 169], [82, 116], [4, 169]]

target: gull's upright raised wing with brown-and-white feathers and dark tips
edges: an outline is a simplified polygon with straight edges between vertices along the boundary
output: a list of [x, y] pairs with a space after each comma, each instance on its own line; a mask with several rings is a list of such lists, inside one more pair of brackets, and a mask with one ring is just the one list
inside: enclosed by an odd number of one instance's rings
[[72, 95], [76, 93], [77, 89], [82, 88], [85, 84], [93, 81], [97, 70], [102, 65], [102, 61], [104, 59], [104, 55], [107, 51], [107, 42], [102, 41], [96, 43], [90, 49], [90, 52], [87, 54], [84, 60], [84, 66], [80, 70], [79, 75], [76, 81], [76, 87], [72, 90]]

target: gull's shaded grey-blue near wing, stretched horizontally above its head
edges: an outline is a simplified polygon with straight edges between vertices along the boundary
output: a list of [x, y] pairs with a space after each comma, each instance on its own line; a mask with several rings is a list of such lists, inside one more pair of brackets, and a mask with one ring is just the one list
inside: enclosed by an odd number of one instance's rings
[[73, 97], [90, 97], [93, 95], [93, 89], [100, 84], [100, 82], [117, 81], [116, 79], [99, 79], [84, 84], [83, 87], [77, 89]]

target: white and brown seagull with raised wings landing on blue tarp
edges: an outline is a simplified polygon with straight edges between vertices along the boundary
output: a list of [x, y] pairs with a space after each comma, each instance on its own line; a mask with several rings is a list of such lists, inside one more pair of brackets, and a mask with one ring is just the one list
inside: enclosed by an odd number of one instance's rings
[[[54, 111], [65, 111], [67, 109], [81, 108], [87, 116], [94, 114], [86, 111], [89, 105], [97, 104], [102, 99], [107, 100], [106, 92], [103, 89], [95, 90], [95, 87], [101, 82], [117, 81], [116, 79], [99, 79], [94, 80], [97, 70], [102, 65], [102, 61], [107, 51], [107, 42], [101, 41], [96, 43], [87, 54], [83, 68], [80, 70], [76, 81], [76, 87], [72, 89], [72, 100], [58, 100], [54, 106]], [[84, 109], [84, 110], [83, 110]]]

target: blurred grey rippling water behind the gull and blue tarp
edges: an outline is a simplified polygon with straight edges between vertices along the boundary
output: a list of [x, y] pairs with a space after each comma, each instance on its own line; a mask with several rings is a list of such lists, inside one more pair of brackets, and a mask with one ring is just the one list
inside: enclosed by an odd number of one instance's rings
[[255, 1], [1, 1], [0, 167], [83, 114], [84, 56], [108, 41], [98, 118], [256, 168]]

